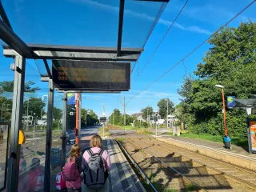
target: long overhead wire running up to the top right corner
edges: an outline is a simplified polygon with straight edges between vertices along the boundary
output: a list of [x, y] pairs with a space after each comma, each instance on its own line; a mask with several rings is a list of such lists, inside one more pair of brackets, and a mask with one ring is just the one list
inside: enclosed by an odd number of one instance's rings
[[[194, 50], [190, 51], [189, 54], [186, 54], [186, 56], [184, 58], [182, 58], [179, 62], [177, 62], [174, 66], [171, 66], [169, 70], [166, 70], [165, 73], [163, 73], [162, 75], [160, 75], [157, 79], [154, 80], [154, 82], [151, 82], [150, 85], [146, 86], [143, 90], [141, 90], [140, 92], [138, 92], [138, 94], [141, 94], [143, 91], [147, 90], [150, 86], [152, 86], [155, 82], [158, 82], [159, 79], [163, 78], [166, 74], [168, 74], [171, 70], [174, 69], [174, 67], [178, 66], [182, 61], [184, 61], [186, 58], [190, 57], [191, 54], [194, 54], [194, 52], [196, 50], [198, 50], [202, 45], [204, 45], [206, 42], [208, 42], [210, 40], [210, 38], [212, 38], [215, 34], [218, 34], [218, 32], [220, 30], [222, 30], [224, 27], [226, 27], [227, 25], [230, 24], [230, 22], [233, 22], [233, 20], [235, 18], [237, 18], [240, 14], [242, 14], [245, 10], [247, 10], [250, 6], [252, 6], [254, 4], [254, 2], [256, 2], [256, 0], [254, 0], [253, 2], [250, 2], [250, 4], [248, 4], [246, 7], [244, 7], [241, 11], [238, 12], [238, 14], [234, 15], [233, 18], [231, 18], [228, 22], [225, 23], [225, 25], [221, 26], [218, 30], [216, 30], [213, 34], [210, 35], [209, 38], [206, 38], [206, 40], [202, 43], [200, 43], [198, 46], [196, 46], [194, 48]], [[134, 96], [132, 96], [130, 98], [130, 100], [134, 97], [136, 97], [138, 94], [134, 94]], [[128, 102], [126, 102], [126, 104], [128, 104], [130, 102], [130, 100]]]

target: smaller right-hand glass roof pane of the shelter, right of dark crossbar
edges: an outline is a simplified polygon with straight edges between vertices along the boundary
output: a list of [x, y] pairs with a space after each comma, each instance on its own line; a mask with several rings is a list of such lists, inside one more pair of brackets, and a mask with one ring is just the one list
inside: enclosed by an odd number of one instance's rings
[[122, 47], [142, 48], [158, 22], [166, 2], [126, 1]]

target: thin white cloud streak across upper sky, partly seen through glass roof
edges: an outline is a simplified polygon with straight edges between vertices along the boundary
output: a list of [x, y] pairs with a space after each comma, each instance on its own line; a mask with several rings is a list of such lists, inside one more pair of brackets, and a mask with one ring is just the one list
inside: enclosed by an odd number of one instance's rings
[[[74, 2], [80, 2], [80, 3], [86, 3], [89, 4], [91, 6], [97, 6], [97, 8], [102, 9], [102, 10], [107, 10], [110, 12], [114, 12], [116, 14], [118, 14], [119, 8], [117, 6], [110, 6], [110, 5], [106, 5], [100, 2], [94, 2], [91, 0], [72, 0]], [[141, 14], [141, 13], [137, 13], [134, 12], [133, 10], [126, 10], [125, 9], [125, 14], [132, 16], [132, 17], [136, 17], [136, 18], [140, 18], [140, 19], [145, 19], [147, 21], [153, 22], [154, 21], [154, 17], [148, 15], [148, 14]], [[172, 22], [162, 19], [160, 18], [158, 23], [165, 25], [165, 26], [170, 26], [172, 24]], [[202, 29], [199, 26], [183, 26], [182, 24], [179, 24], [178, 22], [174, 23], [174, 27], [180, 29], [180, 30], [186, 30], [186, 31], [190, 31], [193, 33], [198, 33], [198, 34], [211, 34], [211, 32], [209, 30], [205, 30]]]

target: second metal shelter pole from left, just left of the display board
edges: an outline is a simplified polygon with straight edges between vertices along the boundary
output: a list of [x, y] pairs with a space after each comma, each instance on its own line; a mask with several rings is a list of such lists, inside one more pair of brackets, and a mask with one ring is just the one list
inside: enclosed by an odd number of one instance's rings
[[54, 107], [54, 84], [52, 80], [48, 82], [48, 107], [47, 107], [47, 129], [46, 129], [46, 161], [44, 191], [50, 191], [50, 154], [51, 138], [53, 128], [53, 107]]

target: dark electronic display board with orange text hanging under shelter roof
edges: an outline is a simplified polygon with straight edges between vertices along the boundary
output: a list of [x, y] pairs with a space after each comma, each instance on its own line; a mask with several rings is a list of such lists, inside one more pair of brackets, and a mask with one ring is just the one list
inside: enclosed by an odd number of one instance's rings
[[130, 89], [130, 62], [53, 60], [52, 72], [59, 89]]

